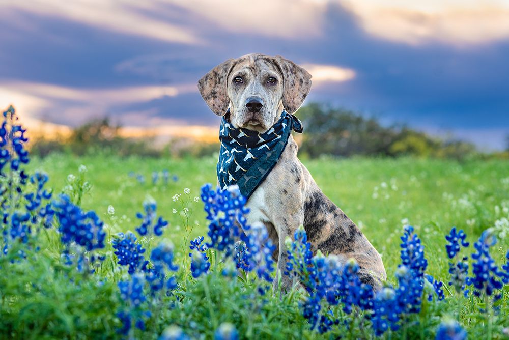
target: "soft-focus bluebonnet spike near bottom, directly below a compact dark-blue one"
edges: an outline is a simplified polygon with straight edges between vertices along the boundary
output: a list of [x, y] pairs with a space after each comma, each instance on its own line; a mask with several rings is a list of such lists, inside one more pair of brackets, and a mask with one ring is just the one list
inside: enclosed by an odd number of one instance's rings
[[133, 320], [136, 328], [144, 330], [144, 318], [150, 317], [150, 311], [145, 310], [142, 306], [147, 301], [143, 292], [145, 286], [144, 277], [140, 274], [134, 274], [129, 281], [120, 281], [118, 286], [120, 297], [126, 303], [126, 308], [117, 313], [117, 316], [122, 321], [122, 328], [119, 332], [127, 335], [132, 329]]

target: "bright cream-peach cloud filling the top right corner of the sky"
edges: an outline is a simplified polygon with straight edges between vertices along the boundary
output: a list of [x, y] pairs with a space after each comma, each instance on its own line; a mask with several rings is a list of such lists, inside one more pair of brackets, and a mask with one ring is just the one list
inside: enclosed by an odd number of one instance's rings
[[497, 0], [344, 0], [366, 32], [394, 42], [472, 45], [509, 37], [509, 3]]

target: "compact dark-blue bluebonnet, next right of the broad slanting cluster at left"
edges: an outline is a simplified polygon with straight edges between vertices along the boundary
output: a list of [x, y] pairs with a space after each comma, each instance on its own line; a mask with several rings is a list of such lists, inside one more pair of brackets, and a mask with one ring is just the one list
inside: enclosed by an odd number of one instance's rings
[[115, 255], [119, 260], [118, 264], [121, 266], [129, 266], [129, 274], [134, 274], [138, 268], [146, 265], [145, 257], [143, 256], [145, 248], [142, 248], [142, 245], [136, 243], [136, 236], [133, 233], [119, 233], [118, 238], [112, 241], [112, 246], [117, 250], [115, 251]]

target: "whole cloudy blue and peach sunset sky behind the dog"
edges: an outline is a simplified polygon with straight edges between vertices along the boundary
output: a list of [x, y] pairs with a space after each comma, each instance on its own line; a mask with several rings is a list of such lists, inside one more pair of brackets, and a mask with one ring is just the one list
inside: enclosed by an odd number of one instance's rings
[[213, 133], [197, 80], [260, 52], [313, 75], [306, 102], [485, 150], [509, 135], [509, 0], [0, 0], [0, 15], [0, 107], [33, 126]]

